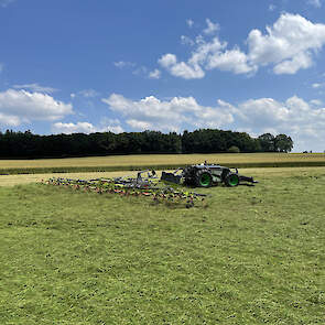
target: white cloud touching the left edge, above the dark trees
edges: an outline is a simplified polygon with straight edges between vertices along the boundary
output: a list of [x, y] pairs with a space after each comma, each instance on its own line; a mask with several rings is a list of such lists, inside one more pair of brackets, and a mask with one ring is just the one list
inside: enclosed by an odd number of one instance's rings
[[41, 93], [8, 89], [0, 93], [1, 121], [11, 126], [32, 120], [57, 120], [73, 113], [73, 106]]

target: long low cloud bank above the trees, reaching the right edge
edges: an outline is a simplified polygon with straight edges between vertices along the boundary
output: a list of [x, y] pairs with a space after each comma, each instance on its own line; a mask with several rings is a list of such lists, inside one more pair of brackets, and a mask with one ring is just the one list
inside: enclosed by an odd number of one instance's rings
[[285, 133], [295, 143], [324, 143], [325, 139], [323, 102], [307, 102], [297, 96], [285, 101], [273, 98], [248, 99], [237, 105], [217, 100], [214, 106], [202, 106], [193, 97], [160, 100], [149, 96], [141, 100], [131, 100], [117, 94], [102, 101], [137, 131], [220, 128], [245, 130], [252, 136], [266, 132]]

